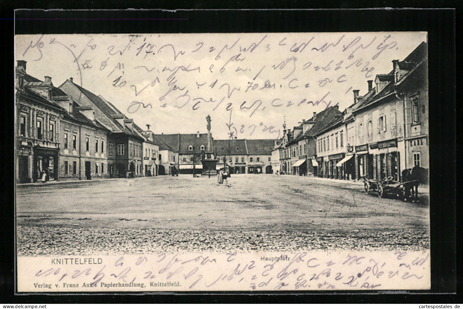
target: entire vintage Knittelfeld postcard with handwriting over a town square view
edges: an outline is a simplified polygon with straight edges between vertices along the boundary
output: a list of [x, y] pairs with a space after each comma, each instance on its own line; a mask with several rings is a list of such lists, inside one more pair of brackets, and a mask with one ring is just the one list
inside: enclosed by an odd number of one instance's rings
[[17, 291], [429, 290], [427, 41], [16, 35]]

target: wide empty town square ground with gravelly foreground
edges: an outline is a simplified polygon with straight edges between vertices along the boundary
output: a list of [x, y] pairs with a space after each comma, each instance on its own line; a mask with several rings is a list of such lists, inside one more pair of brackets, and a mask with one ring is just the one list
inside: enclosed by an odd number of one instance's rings
[[[17, 187], [19, 255], [422, 250], [428, 203], [313, 177], [160, 176]], [[422, 195], [424, 200], [427, 195]]]

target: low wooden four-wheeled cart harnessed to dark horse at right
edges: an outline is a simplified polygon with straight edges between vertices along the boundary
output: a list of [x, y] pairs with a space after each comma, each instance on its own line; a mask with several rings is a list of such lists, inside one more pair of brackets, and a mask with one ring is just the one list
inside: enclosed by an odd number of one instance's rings
[[363, 177], [363, 182], [367, 194], [370, 191], [376, 191], [380, 198], [393, 195], [403, 200], [407, 200], [410, 196], [418, 200], [419, 180], [394, 181], [391, 177], [385, 180], [372, 180]]

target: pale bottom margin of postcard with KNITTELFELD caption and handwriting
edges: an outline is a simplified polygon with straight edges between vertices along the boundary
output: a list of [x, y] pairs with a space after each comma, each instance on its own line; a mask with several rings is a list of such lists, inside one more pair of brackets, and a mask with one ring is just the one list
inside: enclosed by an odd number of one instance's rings
[[[89, 262], [89, 263], [88, 263]], [[429, 252], [18, 257], [19, 291], [429, 289]]]

